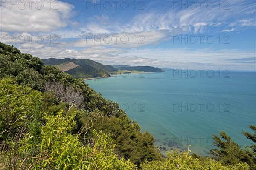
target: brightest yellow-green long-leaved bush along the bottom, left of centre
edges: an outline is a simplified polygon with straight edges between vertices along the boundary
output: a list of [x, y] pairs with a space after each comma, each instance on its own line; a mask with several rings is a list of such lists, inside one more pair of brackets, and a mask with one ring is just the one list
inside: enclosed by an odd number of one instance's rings
[[70, 133], [76, 124], [75, 115], [76, 112], [71, 116], [64, 116], [62, 112], [55, 116], [46, 114], [46, 124], [40, 128], [40, 133], [34, 136], [29, 131], [18, 142], [9, 140], [10, 147], [17, 150], [2, 153], [1, 159], [9, 167], [22, 170], [134, 169], [135, 166], [130, 161], [117, 158], [112, 139], [104, 133], [94, 131], [90, 145], [84, 146], [79, 134]]

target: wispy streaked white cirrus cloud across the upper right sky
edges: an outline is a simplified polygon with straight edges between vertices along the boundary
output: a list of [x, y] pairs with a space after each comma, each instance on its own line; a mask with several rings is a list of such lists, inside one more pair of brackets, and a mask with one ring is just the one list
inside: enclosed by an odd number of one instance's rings
[[[204, 2], [204, 1], [203, 1]], [[209, 31], [209, 27], [217, 27], [227, 25], [230, 22], [240, 23], [240, 26], [253, 26], [255, 19], [242, 19], [246, 17], [246, 11], [255, 10], [255, 4], [247, 3], [247, 1], [229, 1], [230, 4], [214, 1], [214, 8], [211, 10], [207, 8], [206, 2], [203, 7], [195, 10], [179, 8], [170, 9], [166, 3], [166, 8], [148, 10], [142, 14], [137, 14], [127, 24], [120, 23], [114, 29], [116, 32], [141, 32], [141, 31], [159, 31], [169, 30], [172, 32], [175, 28], [182, 28], [180, 34], [186, 32], [202, 33]], [[170, 4], [169, 4], [170, 5]], [[221, 9], [220, 9], [221, 8]], [[176, 10], [175, 10], [176, 9]], [[233, 14], [236, 13], [237, 17], [234, 18]], [[238, 21], [234, 21], [237, 20]]]

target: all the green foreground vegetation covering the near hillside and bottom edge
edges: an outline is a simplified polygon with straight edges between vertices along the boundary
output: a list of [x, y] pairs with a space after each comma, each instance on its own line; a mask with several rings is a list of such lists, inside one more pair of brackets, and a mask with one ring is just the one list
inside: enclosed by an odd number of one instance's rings
[[38, 57], [0, 42], [0, 170], [253, 170], [256, 126], [241, 149], [225, 132], [211, 157], [164, 158], [113, 101]]

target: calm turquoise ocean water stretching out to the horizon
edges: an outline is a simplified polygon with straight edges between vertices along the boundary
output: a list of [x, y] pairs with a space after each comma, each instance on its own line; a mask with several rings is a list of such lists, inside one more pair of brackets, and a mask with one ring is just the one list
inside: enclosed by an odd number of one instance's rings
[[163, 153], [187, 150], [190, 144], [192, 153], [207, 156], [214, 147], [212, 135], [221, 130], [241, 147], [250, 145], [241, 132], [256, 125], [255, 72], [176, 70], [86, 82], [154, 135]]

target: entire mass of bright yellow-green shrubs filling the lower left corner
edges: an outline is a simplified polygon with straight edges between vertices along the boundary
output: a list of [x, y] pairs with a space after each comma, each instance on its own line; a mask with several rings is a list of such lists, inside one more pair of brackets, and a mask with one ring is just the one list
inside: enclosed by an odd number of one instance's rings
[[130, 161], [116, 156], [112, 139], [105, 133], [93, 131], [89, 142], [80, 134], [72, 133], [78, 113], [75, 108], [66, 114], [63, 111], [48, 113], [47, 107], [40, 108], [44, 106], [44, 94], [13, 82], [13, 79], [0, 80], [2, 167], [20, 170], [134, 169]]

